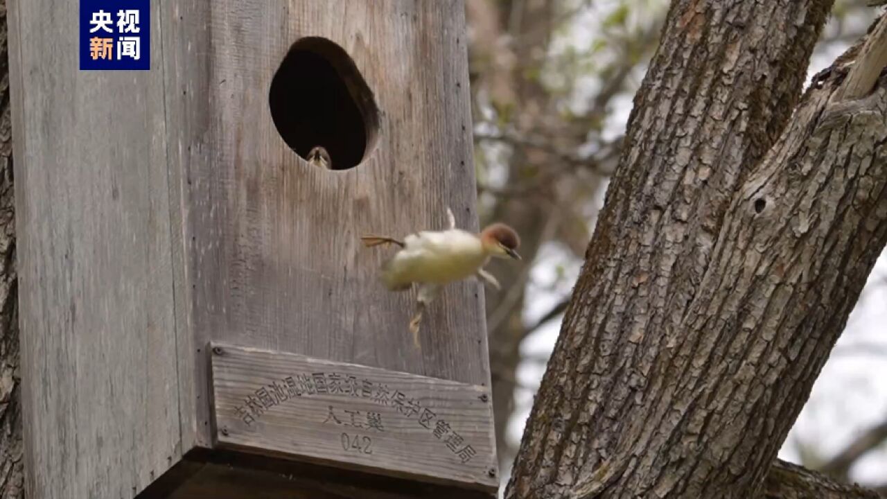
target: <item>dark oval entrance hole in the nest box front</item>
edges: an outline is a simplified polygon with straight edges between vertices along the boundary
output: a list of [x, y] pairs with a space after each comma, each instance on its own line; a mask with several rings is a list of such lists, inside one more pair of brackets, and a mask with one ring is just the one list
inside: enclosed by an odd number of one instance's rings
[[326, 38], [297, 41], [271, 79], [271, 119], [296, 154], [324, 147], [334, 170], [354, 168], [373, 150], [379, 109], [354, 60]]

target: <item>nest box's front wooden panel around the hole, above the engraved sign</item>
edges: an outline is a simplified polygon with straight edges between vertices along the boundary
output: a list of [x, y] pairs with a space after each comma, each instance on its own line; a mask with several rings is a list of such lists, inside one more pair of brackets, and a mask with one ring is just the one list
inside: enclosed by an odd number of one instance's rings
[[[197, 414], [184, 421], [185, 448], [210, 444], [208, 341], [489, 385], [481, 285], [445, 289], [419, 351], [407, 327], [415, 295], [385, 292], [377, 268], [389, 251], [358, 241], [442, 228], [448, 205], [459, 226], [476, 228], [463, 9], [461, 0], [165, 4], [169, 154], [187, 207], [177, 289], [190, 334], [179, 345], [194, 379], [183, 404]], [[271, 120], [271, 78], [302, 36], [344, 48], [381, 111], [376, 145], [352, 170], [310, 169]]]

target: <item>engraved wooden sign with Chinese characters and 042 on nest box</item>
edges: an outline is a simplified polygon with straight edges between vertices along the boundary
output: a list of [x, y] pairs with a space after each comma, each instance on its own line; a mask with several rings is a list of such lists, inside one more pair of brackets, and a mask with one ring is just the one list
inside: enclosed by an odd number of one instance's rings
[[483, 386], [232, 345], [210, 352], [219, 448], [498, 487]]

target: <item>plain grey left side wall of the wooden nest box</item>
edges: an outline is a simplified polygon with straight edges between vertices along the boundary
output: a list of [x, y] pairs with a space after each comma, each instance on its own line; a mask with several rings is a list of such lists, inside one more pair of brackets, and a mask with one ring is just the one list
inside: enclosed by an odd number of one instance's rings
[[77, 2], [9, 6], [28, 496], [131, 497], [180, 454], [163, 72], [81, 72]]

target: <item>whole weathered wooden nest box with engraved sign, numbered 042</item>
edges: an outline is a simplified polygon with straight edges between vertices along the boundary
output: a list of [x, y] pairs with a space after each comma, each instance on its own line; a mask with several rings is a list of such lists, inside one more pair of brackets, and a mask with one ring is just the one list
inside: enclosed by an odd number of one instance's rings
[[9, 18], [29, 497], [493, 495], [482, 285], [417, 348], [359, 241], [477, 229], [462, 1], [151, 2], [141, 72], [77, 8]]

